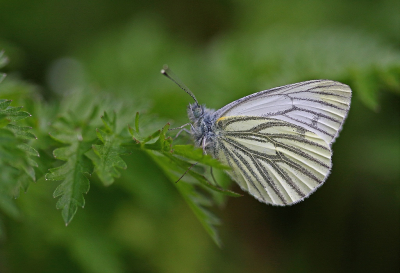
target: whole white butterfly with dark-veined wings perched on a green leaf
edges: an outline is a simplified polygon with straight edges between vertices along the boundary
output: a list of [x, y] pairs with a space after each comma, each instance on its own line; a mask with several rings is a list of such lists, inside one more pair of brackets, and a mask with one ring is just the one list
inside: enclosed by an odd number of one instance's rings
[[168, 67], [161, 73], [195, 101], [187, 109], [190, 123], [179, 128], [190, 125], [195, 145], [228, 165], [228, 175], [260, 202], [298, 203], [329, 176], [331, 146], [350, 109], [348, 85], [332, 80], [288, 84], [214, 111], [200, 105]]

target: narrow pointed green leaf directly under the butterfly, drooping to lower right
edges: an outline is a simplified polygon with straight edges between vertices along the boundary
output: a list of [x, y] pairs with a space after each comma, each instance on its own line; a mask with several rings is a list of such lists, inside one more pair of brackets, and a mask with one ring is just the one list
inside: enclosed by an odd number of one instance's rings
[[[209, 155], [204, 155], [201, 149], [194, 149], [192, 145], [172, 146], [172, 138], [166, 137], [169, 124], [148, 137], [143, 137], [140, 134], [139, 114], [137, 113], [135, 129], [129, 129], [133, 141], [125, 144], [125, 146], [130, 149], [143, 149], [147, 152], [164, 171], [169, 180], [175, 182], [175, 186], [180, 194], [202, 223], [208, 234], [213, 238], [216, 244], [221, 245], [221, 241], [215, 229], [215, 225], [219, 224], [219, 220], [207, 210], [207, 207], [215, 204], [215, 196], [213, 195], [224, 194], [233, 197], [239, 197], [241, 195], [211, 184], [204, 175], [192, 171], [191, 168], [197, 163], [217, 169], [227, 169], [228, 167], [222, 165], [218, 160], [211, 158]], [[154, 139], [156, 139], [156, 141], [151, 142]], [[189, 160], [195, 160], [196, 163], [190, 163]], [[186, 173], [190, 175], [190, 177], [185, 176]]]

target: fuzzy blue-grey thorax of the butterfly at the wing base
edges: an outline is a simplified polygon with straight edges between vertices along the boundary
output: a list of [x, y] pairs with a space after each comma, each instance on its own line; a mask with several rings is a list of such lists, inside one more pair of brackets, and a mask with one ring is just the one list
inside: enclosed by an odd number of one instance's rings
[[188, 106], [189, 120], [192, 122], [191, 134], [195, 144], [205, 149], [207, 153], [214, 153], [215, 143], [215, 121], [214, 110], [206, 108], [204, 105], [196, 103]]

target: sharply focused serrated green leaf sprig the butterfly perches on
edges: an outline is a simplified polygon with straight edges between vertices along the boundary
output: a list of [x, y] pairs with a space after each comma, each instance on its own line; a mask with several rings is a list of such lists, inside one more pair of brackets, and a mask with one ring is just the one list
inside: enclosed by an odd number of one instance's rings
[[[66, 98], [66, 100], [70, 99], [71, 97]], [[78, 105], [79, 101], [84, 99], [85, 96], [80, 99], [74, 97]], [[69, 105], [69, 102], [65, 103]], [[186, 174], [179, 183], [174, 183], [174, 185], [206, 231], [215, 242], [220, 244], [215, 230], [215, 225], [219, 221], [216, 216], [206, 210], [206, 207], [215, 204], [217, 201], [213, 201], [214, 199], [220, 200], [219, 195], [234, 197], [241, 195], [210, 183], [202, 174], [203, 167], [196, 166], [197, 171], [192, 170], [192, 167], [197, 163], [216, 169], [227, 169], [227, 167], [212, 157], [204, 155], [201, 149], [194, 149], [192, 145], [173, 145], [172, 138], [167, 136], [169, 124], [150, 133], [149, 128], [145, 128], [146, 126], [141, 128], [137, 113], [134, 128], [126, 126], [125, 130], [118, 130], [118, 113], [112, 112], [112, 115], [109, 115], [108, 112], [104, 112], [101, 125], [96, 117], [99, 105], [92, 104], [89, 108], [92, 111], [86, 111], [86, 115], [75, 115], [71, 111], [60, 113], [59, 117], [51, 123], [50, 137], [57, 147], [53, 151], [56, 161], [48, 161], [45, 164], [57, 165], [58, 160], [64, 163], [61, 166], [49, 168], [45, 178], [49, 181], [61, 181], [53, 196], [59, 197], [56, 207], [61, 209], [65, 224], [68, 225], [71, 222], [78, 207], [85, 206], [84, 194], [89, 191], [93, 173], [105, 186], [109, 186], [120, 177], [119, 170], [127, 168], [121, 156], [142, 150], [159, 165], [172, 182], [178, 181], [183, 174]], [[12, 112], [9, 115], [19, 118], [20, 115], [15, 113]], [[16, 127], [13, 130], [20, 137], [30, 136], [24, 127]], [[28, 147], [25, 147], [25, 151], [33, 153], [33, 150]]]

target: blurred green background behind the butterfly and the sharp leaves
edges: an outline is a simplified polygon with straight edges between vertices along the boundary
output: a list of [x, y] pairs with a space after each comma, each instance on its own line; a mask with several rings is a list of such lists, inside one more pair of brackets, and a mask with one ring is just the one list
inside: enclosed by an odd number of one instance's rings
[[191, 99], [166, 63], [211, 108], [311, 79], [354, 91], [326, 184], [286, 208], [228, 199], [221, 249], [138, 153], [112, 186], [93, 179], [68, 227], [57, 182], [31, 185], [22, 216], [1, 217], [0, 272], [400, 272], [399, 14], [398, 0], [0, 0], [3, 71], [43, 103], [90, 85], [134, 102], [132, 120], [179, 126]]

